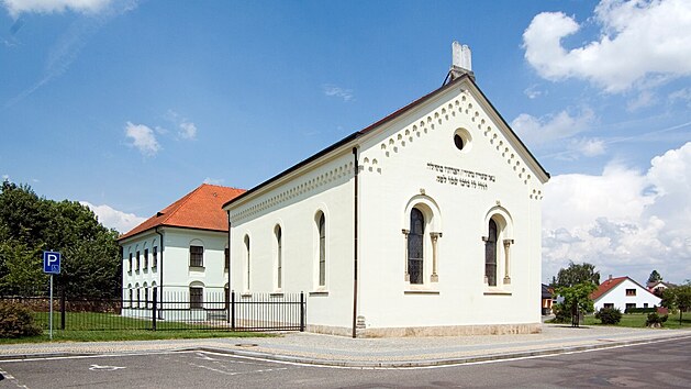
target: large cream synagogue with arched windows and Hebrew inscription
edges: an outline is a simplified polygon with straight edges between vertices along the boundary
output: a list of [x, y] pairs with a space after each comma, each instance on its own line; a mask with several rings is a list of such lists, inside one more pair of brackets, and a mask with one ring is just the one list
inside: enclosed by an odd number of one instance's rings
[[223, 205], [241, 299], [305, 291], [308, 331], [354, 337], [540, 331], [549, 175], [453, 48], [441, 88]]

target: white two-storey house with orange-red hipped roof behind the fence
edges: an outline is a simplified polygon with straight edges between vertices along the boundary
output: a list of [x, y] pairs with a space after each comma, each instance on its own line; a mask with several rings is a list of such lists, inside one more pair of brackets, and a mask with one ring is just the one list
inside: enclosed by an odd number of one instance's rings
[[[202, 184], [121, 235], [126, 309], [151, 308], [153, 290], [199, 307], [227, 287], [227, 214], [221, 205], [244, 190]], [[161, 244], [163, 242], [163, 244]]]

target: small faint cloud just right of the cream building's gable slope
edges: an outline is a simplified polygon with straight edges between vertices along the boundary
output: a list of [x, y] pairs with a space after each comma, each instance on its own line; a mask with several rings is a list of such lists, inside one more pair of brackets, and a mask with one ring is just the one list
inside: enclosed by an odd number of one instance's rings
[[540, 118], [521, 113], [511, 122], [511, 127], [527, 144], [538, 146], [587, 131], [593, 121], [594, 113], [586, 108], [575, 115], [567, 111]]

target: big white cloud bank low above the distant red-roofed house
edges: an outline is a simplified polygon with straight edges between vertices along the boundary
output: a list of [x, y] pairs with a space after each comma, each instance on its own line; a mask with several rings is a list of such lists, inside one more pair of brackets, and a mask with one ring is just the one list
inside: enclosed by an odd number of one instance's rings
[[691, 142], [642, 173], [612, 164], [602, 175], [559, 175], [545, 187], [544, 279], [568, 260], [638, 281], [657, 269], [691, 278]]

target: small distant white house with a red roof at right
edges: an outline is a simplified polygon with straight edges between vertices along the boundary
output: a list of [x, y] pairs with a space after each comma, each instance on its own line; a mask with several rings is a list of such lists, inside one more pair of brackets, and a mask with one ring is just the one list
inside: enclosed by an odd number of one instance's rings
[[660, 304], [660, 298], [653, 294], [640, 284], [629, 277], [610, 278], [600, 284], [598, 290], [590, 296], [595, 310], [601, 308], [618, 308], [624, 312], [627, 308], [653, 308]]

